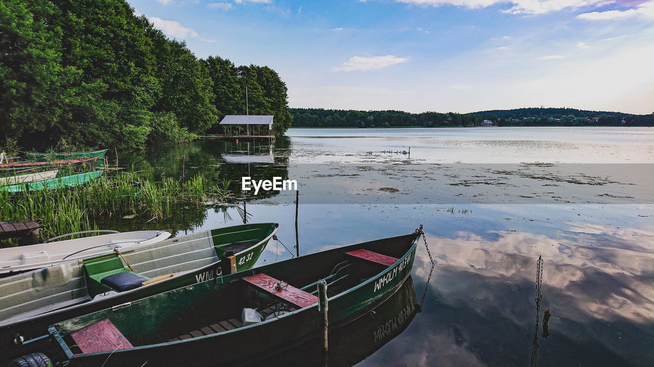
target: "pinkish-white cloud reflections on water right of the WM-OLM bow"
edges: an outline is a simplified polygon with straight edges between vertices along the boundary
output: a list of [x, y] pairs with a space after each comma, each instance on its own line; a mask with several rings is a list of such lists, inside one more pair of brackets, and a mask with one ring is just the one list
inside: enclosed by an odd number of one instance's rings
[[[536, 259], [542, 255], [545, 259], [543, 289], [546, 294], [557, 293], [560, 304], [552, 306], [566, 310], [567, 317], [607, 321], [625, 317], [636, 323], [653, 322], [654, 253], [642, 251], [642, 246], [627, 244], [633, 238], [632, 232], [649, 238], [652, 234], [636, 229], [623, 229], [622, 232], [628, 235], [624, 239], [612, 237], [610, 247], [601, 246], [602, 241], [589, 246], [591, 241], [584, 233], [578, 234], [581, 244], [564, 244], [542, 234], [504, 231], [489, 231], [486, 237], [470, 232], [457, 232], [454, 238], [428, 235], [427, 240], [437, 262], [437, 275], [438, 272], [465, 271], [484, 276], [492, 283], [532, 284]], [[570, 238], [576, 235], [566, 233]], [[426, 251], [419, 251], [416, 276], [426, 278], [428, 261]], [[466, 289], [466, 285], [442, 283], [438, 278], [432, 282], [432, 288], [450, 295], [458, 295]], [[495, 290], [488, 291], [491, 288], [469, 291], [475, 292], [477, 298], [488, 297], [489, 301], [496, 302]], [[532, 302], [529, 298], [524, 301]]]

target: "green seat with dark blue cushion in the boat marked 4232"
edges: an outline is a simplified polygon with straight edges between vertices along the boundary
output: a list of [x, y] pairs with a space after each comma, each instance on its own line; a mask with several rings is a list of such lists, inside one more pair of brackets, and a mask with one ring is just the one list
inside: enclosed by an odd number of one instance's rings
[[120, 257], [111, 256], [84, 264], [89, 278], [114, 291], [124, 292], [141, 287], [144, 281], [150, 280], [123, 265]]

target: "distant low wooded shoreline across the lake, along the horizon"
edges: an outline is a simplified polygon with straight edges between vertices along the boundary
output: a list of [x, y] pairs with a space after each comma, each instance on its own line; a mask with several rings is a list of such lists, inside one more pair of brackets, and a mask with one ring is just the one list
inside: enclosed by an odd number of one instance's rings
[[[447, 127], [476, 126], [490, 120], [499, 126], [652, 126], [654, 114], [630, 115], [572, 108], [519, 108], [457, 114], [448, 112], [324, 110], [291, 108], [293, 127]], [[624, 121], [624, 122], [623, 122]]]

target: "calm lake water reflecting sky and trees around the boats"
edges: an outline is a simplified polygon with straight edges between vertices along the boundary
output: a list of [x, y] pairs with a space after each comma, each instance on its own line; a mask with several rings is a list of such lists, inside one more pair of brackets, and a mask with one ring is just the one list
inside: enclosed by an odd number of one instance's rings
[[[241, 200], [239, 207], [214, 204], [164, 223], [120, 219], [99, 226], [184, 234], [244, 219], [276, 221], [283, 244], [271, 242], [258, 266], [422, 224], [436, 263], [422, 312], [413, 305], [430, 275], [424, 244], [411, 284], [377, 316], [330, 332], [328, 365], [654, 366], [654, 129], [290, 129], [287, 135], [273, 144], [156, 146], [118, 161], [152, 178], [179, 177], [184, 156], [185, 176], [231, 179], [236, 191], [241, 176], [297, 180], [299, 249], [295, 191], [249, 195], [245, 210]], [[229, 163], [235, 160], [252, 163]], [[534, 338], [539, 255], [541, 323], [543, 308], [552, 313], [547, 338], [542, 324]], [[324, 365], [318, 351], [309, 343], [279, 364]]]

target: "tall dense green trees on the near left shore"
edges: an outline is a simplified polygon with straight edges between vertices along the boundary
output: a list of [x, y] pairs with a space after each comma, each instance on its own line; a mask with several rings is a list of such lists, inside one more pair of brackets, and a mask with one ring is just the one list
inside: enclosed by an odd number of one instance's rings
[[282, 135], [287, 89], [269, 67], [198, 59], [124, 0], [0, 2], [0, 143], [179, 142], [245, 114], [246, 87], [250, 114]]

